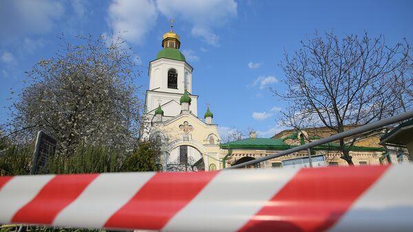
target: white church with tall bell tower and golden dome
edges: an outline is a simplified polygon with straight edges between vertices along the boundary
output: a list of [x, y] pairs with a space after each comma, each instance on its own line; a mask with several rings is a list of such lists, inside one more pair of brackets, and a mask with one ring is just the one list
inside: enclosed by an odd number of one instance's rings
[[193, 67], [180, 52], [176, 32], [165, 33], [162, 50], [149, 63], [143, 138], [162, 146], [162, 171], [201, 171], [220, 167], [220, 135], [209, 107], [198, 117]]

